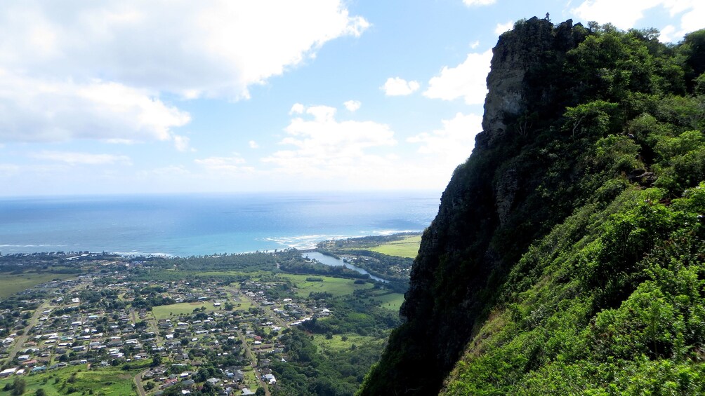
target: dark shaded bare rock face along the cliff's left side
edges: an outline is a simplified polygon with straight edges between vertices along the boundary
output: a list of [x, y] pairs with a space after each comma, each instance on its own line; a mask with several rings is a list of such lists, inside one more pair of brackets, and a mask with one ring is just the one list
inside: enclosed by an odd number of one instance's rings
[[[536, 187], [534, 174], [545, 171], [525, 166], [521, 148], [532, 142], [515, 120], [543, 104], [535, 103], [537, 97], [548, 101], [554, 89], [551, 82], [530, 84], [531, 73], [550, 67], [547, 58], [563, 56], [583, 37], [570, 20], [556, 27], [538, 18], [500, 37], [487, 77], [483, 132], [470, 160], [455, 170], [439, 214], [424, 233], [400, 310], [405, 325], [390, 340], [388, 355], [396, 363], [386, 375], [393, 389], [369, 388], [370, 395], [436, 392], [492, 299], [503, 268], [542, 231], [533, 226], [516, 241], [498, 238], [498, 229], [517, 223], [513, 213]], [[544, 211], [531, 205], [520, 211]]]

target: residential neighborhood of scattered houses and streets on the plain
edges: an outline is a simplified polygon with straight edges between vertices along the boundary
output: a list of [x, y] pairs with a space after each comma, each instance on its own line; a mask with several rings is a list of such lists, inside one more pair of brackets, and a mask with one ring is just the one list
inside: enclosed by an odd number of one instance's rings
[[0, 329], [0, 378], [67, 366], [143, 366], [134, 377], [140, 395], [166, 394], [175, 385], [182, 395], [196, 386], [217, 387], [219, 395], [269, 395], [277, 383], [271, 362], [288, 359], [281, 335], [331, 315], [324, 301], [302, 298], [274, 277], [133, 281], [123, 268], [145, 263], [92, 264], [100, 271], [39, 284], [20, 293], [27, 297], [20, 306], [0, 310], [5, 323], [11, 319]]

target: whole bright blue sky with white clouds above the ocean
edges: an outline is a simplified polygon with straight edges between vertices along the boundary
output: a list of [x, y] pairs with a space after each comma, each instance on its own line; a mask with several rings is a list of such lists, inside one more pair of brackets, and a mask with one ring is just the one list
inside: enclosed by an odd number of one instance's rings
[[516, 20], [705, 27], [701, 0], [5, 0], [0, 196], [443, 191]]

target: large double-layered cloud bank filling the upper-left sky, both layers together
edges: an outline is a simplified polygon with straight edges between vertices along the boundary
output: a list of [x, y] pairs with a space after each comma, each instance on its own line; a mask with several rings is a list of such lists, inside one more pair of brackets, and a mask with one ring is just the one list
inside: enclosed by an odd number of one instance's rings
[[188, 141], [160, 95], [249, 96], [248, 87], [359, 37], [343, 0], [16, 1], [0, 13], [0, 141]]

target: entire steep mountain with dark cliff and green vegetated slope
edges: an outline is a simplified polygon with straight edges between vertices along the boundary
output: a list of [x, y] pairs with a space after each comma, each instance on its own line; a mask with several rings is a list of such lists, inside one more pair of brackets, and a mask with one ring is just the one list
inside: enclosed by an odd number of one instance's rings
[[532, 18], [491, 66], [360, 394], [704, 392], [705, 30]]

